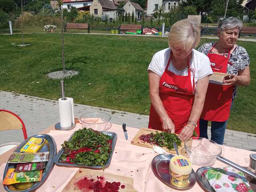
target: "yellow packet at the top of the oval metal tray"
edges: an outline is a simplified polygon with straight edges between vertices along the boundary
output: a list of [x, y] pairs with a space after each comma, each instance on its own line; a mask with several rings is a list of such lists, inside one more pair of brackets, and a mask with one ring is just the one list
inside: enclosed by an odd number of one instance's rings
[[21, 148], [20, 152], [23, 153], [36, 153], [44, 145], [46, 139], [32, 137], [26, 144]]

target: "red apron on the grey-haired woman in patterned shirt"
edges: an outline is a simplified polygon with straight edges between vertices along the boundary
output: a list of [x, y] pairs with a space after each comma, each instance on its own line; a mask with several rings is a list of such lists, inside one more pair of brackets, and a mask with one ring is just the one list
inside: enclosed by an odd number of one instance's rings
[[[212, 46], [212, 49], [213, 48], [214, 46]], [[207, 56], [210, 59], [212, 71], [226, 73], [230, 51], [228, 52], [227, 58], [219, 54], [211, 54], [210, 52]], [[228, 120], [232, 103], [233, 88], [234, 86], [209, 83], [201, 119], [217, 122]]]

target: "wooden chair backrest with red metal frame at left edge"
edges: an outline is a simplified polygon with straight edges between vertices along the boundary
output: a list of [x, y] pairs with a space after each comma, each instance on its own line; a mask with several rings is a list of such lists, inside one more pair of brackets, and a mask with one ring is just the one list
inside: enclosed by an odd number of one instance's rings
[[24, 140], [28, 138], [22, 119], [11, 111], [0, 109], [0, 131], [14, 129], [22, 129]]

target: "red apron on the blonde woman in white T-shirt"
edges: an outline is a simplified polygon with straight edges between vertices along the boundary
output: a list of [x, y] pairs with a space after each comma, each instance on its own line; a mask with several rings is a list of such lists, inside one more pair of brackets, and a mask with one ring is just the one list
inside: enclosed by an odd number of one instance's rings
[[[159, 96], [162, 100], [164, 108], [175, 125], [175, 133], [179, 134], [182, 128], [187, 124], [190, 112], [194, 101], [194, 90], [195, 83], [193, 78], [193, 88], [191, 83], [191, 71], [194, 69], [190, 68], [188, 60], [188, 75], [179, 76], [168, 70], [170, 65], [171, 56], [168, 60], [168, 64], [165, 68], [164, 73], [160, 78], [159, 85]], [[163, 130], [162, 121], [154, 110], [153, 105], [150, 106], [150, 116], [148, 128]], [[195, 129], [196, 134], [199, 135], [199, 121], [198, 126]]]

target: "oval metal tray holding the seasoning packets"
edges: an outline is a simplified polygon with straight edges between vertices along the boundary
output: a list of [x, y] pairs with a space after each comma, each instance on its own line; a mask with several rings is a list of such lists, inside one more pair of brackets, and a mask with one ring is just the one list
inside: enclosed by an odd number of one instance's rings
[[[19, 189], [15, 188], [14, 185], [4, 185], [4, 189], [8, 192], [13, 192], [13, 191], [32, 192], [32, 191], [35, 191], [37, 188], [39, 188], [46, 181], [46, 179], [50, 175], [50, 172], [52, 171], [52, 168], [53, 168], [53, 165], [54, 165], [54, 158], [55, 158], [56, 153], [57, 153], [56, 143], [55, 143], [54, 139], [52, 138], [52, 136], [47, 135], [47, 134], [34, 135], [34, 136], [31, 136], [30, 138], [32, 138], [32, 137], [44, 138], [44, 139], [47, 140], [47, 142], [45, 142], [44, 145], [42, 146], [42, 148], [38, 151], [38, 152], [47, 152], [47, 151], [49, 151], [49, 160], [46, 163], [46, 167], [44, 169], [44, 172], [42, 173], [42, 180], [39, 181], [39, 182], [34, 182], [34, 184], [30, 188], [26, 188], [24, 190], [19, 190]], [[21, 148], [26, 144], [26, 142], [28, 142], [28, 140], [30, 140], [30, 138], [27, 138], [25, 141], [23, 141], [14, 150], [14, 152], [20, 152]], [[16, 164], [14, 164], [14, 163], [6, 164], [3, 179], [6, 176], [8, 168], [14, 168], [15, 165]]]

